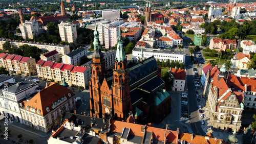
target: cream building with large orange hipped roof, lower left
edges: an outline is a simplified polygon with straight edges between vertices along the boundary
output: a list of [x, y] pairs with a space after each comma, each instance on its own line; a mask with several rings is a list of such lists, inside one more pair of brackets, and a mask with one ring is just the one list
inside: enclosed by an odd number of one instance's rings
[[33, 98], [23, 101], [19, 110], [24, 124], [45, 133], [58, 127], [62, 113], [76, 108], [74, 95], [70, 89], [51, 82]]

